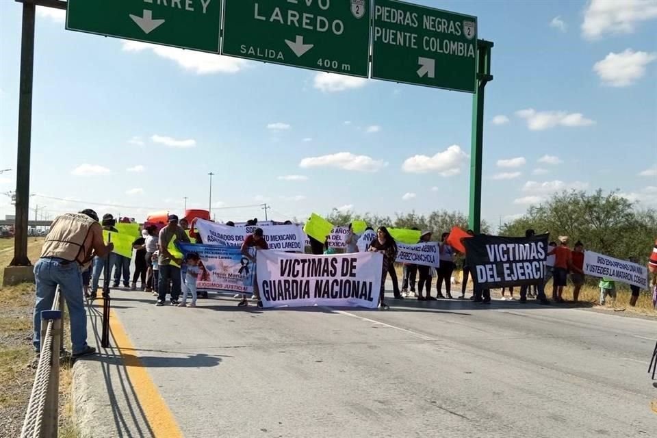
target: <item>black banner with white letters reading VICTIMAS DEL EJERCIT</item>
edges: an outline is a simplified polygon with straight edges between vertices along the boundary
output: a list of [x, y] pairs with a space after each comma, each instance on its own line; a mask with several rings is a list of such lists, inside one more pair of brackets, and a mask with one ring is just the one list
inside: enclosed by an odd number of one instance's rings
[[477, 235], [463, 239], [472, 280], [481, 289], [543, 281], [548, 234], [532, 237]]

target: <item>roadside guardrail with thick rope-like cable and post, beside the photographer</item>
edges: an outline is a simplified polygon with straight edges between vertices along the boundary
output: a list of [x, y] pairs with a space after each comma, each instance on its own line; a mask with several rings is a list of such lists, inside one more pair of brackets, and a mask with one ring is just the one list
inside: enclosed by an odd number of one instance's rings
[[56, 438], [64, 297], [57, 287], [51, 310], [41, 312], [41, 351], [21, 438]]

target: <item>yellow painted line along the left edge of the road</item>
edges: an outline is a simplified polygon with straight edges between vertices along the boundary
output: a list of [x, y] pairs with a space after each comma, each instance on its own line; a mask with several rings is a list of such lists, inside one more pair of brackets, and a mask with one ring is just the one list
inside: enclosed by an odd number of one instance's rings
[[130, 383], [137, 394], [139, 403], [144, 411], [146, 420], [153, 430], [153, 436], [157, 438], [182, 438], [183, 434], [173, 418], [164, 398], [159, 394], [153, 379], [139, 357], [124, 354], [124, 350], [134, 350], [134, 346], [118, 320], [114, 310], [110, 310], [110, 329], [112, 337], [116, 342]]

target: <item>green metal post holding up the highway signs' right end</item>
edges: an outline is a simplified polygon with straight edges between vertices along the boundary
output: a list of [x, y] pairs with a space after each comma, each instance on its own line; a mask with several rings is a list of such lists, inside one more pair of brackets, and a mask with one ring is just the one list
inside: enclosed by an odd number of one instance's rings
[[484, 142], [484, 90], [493, 80], [491, 75], [491, 49], [493, 42], [477, 41], [477, 90], [472, 96], [472, 146], [470, 151], [470, 211], [469, 228], [481, 231], [481, 171]]

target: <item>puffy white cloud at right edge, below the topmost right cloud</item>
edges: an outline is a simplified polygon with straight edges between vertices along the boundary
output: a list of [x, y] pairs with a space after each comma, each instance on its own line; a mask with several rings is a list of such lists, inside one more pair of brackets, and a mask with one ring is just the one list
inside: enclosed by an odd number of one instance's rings
[[635, 52], [626, 49], [609, 53], [604, 60], [593, 64], [593, 71], [606, 86], [627, 87], [645, 75], [645, 67], [657, 60], [657, 53]]

